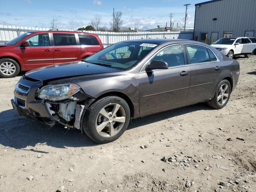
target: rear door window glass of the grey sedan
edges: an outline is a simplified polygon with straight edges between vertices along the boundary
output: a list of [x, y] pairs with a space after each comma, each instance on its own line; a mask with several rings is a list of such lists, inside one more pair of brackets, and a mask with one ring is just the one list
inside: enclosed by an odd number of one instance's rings
[[210, 61], [208, 51], [205, 47], [196, 45], [186, 45], [186, 47], [191, 64]]

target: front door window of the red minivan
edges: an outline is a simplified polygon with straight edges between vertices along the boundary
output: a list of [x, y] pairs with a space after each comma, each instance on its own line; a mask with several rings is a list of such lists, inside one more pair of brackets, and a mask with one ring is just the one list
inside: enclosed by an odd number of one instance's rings
[[34, 35], [26, 40], [29, 47], [47, 47], [50, 46], [49, 34], [42, 33]]

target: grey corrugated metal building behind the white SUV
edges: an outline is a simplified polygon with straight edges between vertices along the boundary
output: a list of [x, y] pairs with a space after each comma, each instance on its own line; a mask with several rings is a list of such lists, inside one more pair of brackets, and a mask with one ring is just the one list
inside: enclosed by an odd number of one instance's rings
[[256, 37], [256, 0], [211, 0], [195, 4], [194, 40]]

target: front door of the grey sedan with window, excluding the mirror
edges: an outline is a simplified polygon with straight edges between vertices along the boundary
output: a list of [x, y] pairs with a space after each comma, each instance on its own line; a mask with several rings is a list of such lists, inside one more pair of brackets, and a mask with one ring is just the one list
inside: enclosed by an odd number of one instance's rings
[[190, 83], [190, 68], [184, 59], [182, 45], [167, 46], [149, 62], [162, 60], [168, 63], [165, 70], [139, 74], [140, 115], [146, 116], [186, 105]]

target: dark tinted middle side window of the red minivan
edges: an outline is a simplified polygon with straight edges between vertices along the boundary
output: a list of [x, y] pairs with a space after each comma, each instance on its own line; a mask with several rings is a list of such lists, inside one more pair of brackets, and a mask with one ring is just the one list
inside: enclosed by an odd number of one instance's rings
[[54, 46], [76, 45], [75, 34], [54, 33]]

